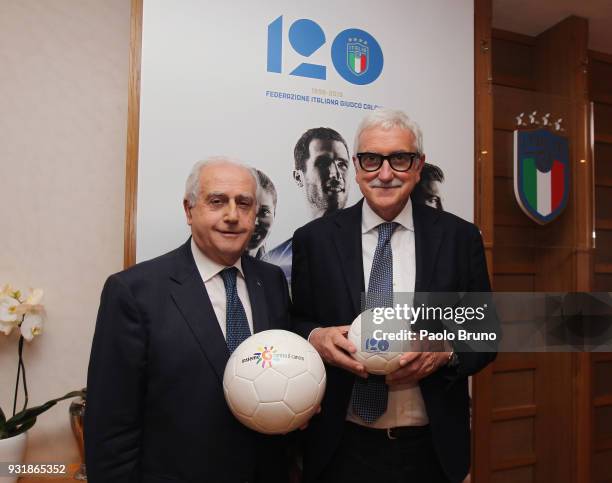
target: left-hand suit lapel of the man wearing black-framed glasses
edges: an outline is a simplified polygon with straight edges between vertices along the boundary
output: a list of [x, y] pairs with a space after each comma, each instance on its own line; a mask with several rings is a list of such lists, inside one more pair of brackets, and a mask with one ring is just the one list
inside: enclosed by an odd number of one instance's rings
[[363, 199], [336, 215], [333, 239], [338, 260], [346, 281], [353, 311], [361, 312], [361, 293], [365, 291], [363, 281], [363, 256], [361, 253], [361, 206]]

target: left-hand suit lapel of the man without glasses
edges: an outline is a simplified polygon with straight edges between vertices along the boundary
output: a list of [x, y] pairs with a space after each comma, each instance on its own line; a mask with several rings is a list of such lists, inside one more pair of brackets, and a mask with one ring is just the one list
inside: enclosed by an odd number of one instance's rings
[[176, 282], [171, 295], [198, 341], [202, 352], [210, 361], [219, 378], [223, 380], [223, 372], [229, 359], [229, 350], [204, 282], [193, 259], [190, 242], [191, 240], [188, 240], [183, 245], [177, 271], [171, 276]]

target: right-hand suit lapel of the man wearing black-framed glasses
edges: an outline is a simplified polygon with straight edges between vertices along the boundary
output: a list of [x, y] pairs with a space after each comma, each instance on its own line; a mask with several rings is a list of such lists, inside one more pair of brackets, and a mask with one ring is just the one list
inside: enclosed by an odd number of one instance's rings
[[438, 216], [439, 213], [433, 209], [417, 203], [412, 204], [416, 254], [415, 292], [431, 290], [431, 277], [443, 237], [441, 225], [436, 224]]

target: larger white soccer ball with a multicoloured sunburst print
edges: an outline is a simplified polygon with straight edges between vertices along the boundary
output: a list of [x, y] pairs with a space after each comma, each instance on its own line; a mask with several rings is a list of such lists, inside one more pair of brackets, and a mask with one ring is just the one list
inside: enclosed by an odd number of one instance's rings
[[223, 375], [225, 400], [245, 426], [284, 434], [304, 425], [325, 392], [325, 366], [297, 334], [266, 330], [240, 344]]

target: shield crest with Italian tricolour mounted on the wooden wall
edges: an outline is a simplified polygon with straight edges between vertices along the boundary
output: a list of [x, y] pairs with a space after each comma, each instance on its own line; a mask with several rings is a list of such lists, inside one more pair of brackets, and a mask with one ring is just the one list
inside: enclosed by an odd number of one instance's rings
[[569, 142], [547, 128], [514, 131], [514, 195], [521, 209], [544, 225], [567, 205]]

